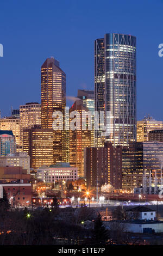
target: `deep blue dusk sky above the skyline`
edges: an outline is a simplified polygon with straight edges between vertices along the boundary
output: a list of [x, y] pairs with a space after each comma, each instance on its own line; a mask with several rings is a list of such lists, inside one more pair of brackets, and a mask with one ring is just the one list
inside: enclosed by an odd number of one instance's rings
[[[94, 89], [94, 40], [105, 33], [137, 38], [137, 119], [163, 120], [163, 1], [1, 1], [2, 116], [11, 106], [40, 102], [40, 67], [53, 56], [67, 76], [67, 95]], [[69, 102], [70, 104], [70, 102]]]

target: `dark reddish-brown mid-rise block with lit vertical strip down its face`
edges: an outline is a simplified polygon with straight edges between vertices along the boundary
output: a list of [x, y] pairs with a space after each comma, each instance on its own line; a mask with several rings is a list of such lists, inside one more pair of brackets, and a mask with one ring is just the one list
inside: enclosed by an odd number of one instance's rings
[[84, 149], [84, 173], [87, 188], [110, 184], [122, 188], [122, 147], [107, 142], [104, 147]]

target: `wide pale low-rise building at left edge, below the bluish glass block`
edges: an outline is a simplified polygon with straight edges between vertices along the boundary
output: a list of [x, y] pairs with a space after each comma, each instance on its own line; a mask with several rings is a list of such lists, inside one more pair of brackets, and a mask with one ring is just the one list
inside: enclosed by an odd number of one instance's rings
[[30, 174], [30, 157], [26, 152], [19, 152], [15, 154], [7, 154], [0, 157], [0, 167], [5, 166], [21, 166]]

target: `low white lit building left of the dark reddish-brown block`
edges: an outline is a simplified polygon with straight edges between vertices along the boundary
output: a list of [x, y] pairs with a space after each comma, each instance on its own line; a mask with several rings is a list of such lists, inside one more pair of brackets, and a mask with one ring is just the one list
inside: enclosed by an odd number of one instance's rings
[[59, 180], [77, 180], [78, 169], [71, 167], [70, 163], [56, 163], [51, 166], [41, 166], [37, 169], [37, 180], [43, 182], [55, 182]]

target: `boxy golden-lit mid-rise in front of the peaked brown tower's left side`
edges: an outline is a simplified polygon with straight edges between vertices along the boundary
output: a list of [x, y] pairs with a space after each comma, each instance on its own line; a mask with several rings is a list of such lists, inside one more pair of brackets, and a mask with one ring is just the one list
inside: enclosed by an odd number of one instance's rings
[[23, 151], [30, 156], [30, 168], [53, 164], [53, 130], [34, 126], [23, 130]]

